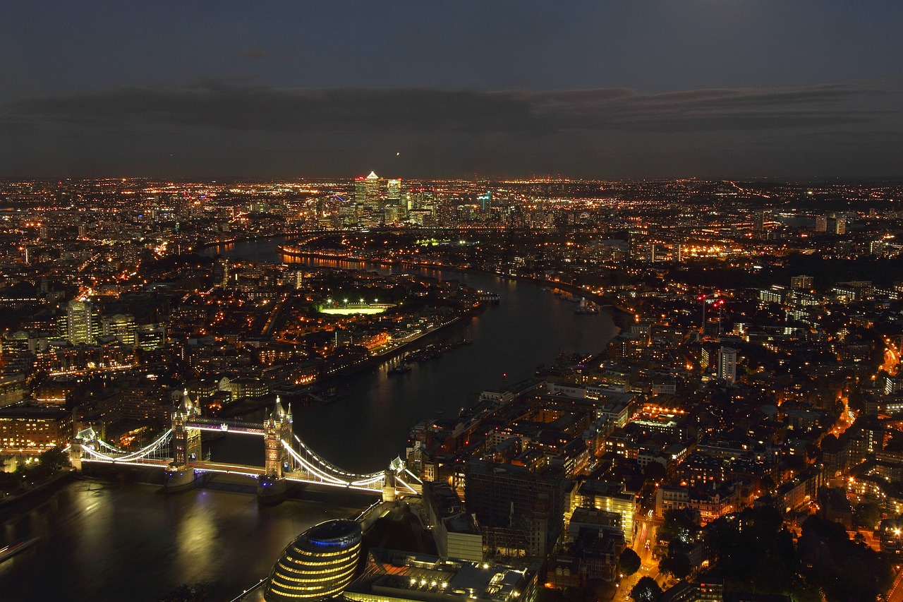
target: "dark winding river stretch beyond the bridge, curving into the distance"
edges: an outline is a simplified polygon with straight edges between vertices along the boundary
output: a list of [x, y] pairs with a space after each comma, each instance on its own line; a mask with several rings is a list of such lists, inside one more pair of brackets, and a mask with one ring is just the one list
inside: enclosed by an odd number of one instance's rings
[[[304, 265], [368, 269], [382, 274], [401, 268], [377, 264], [283, 257], [276, 251], [282, 241], [248, 240], [219, 249], [206, 249], [232, 259], [302, 263]], [[416, 362], [411, 372], [391, 374], [393, 362], [360, 372], [348, 380], [348, 397], [329, 405], [294, 409], [294, 431], [305, 444], [336, 466], [358, 473], [380, 470], [404, 452], [414, 424], [434, 416], [453, 419], [463, 406], [476, 403], [481, 390], [512, 384], [533, 376], [541, 363], [550, 365], [562, 352], [596, 353], [618, 334], [611, 316], [575, 315], [576, 304], [543, 290], [535, 282], [494, 277], [479, 272], [405, 268], [405, 271], [498, 293], [498, 306], [490, 305], [468, 325], [433, 334], [427, 342], [444, 337], [466, 337], [440, 358]], [[397, 362], [395, 360], [394, 362]], [[507, 381], [504, 380], [507, 374]], [[212, 457], [242, 463], [262, 451], [259, 440], [214, 442]]]

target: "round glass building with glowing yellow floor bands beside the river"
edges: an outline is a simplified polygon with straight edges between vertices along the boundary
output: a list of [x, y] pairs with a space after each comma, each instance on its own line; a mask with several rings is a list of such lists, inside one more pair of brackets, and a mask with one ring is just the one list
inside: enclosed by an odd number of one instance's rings
[[267, 602], [313, 600], [339, 594], [358, 569], [360, 523], [321, 522], [295, 538], [270, 571]]

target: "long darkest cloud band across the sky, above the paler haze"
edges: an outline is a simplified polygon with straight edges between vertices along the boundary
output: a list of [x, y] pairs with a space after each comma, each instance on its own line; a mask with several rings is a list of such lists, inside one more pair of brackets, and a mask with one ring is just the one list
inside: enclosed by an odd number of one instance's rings
[[874, 84], [796, 89], [629, 89], [476, 92], [440, 89], [279, 89], [207, 80], [191, 87], [119, 88], [9, 103], [20, 122], [91, 127], [170, 124], [226, 130], [536, 132], [705, 131], [840, 126], [893, 108]]

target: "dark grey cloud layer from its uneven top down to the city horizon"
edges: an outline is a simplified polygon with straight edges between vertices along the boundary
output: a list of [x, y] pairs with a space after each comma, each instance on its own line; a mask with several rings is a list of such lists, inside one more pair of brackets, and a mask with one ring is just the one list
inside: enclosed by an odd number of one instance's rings
[[[251, 77], [0, 105], [6, 174], [898, 175], [896, 82], [778, 89], [293, 89]], [[401, 150], [402, 155], [396, 155]]]

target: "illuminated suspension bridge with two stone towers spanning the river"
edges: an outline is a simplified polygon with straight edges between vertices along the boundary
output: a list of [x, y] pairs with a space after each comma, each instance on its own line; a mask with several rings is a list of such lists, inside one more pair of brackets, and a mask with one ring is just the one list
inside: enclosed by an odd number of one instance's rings
[[[396, 457], [385, 470], [356, 474], [340, 469], [318, 456], [293, 432], [292, 409], [285, 409], [279, 398], [262, 423], [235, 419], [210, 419], [200, 416], [188, 391], [172, 412], [171, 428], [149, 445], [134, 451], [104, 441], [92, 428], [80, 430], [70, 444], [72, 464], [115, 466], [159, 466], [164, 470], [163, 484], [169, 491], [194, 486], [206, 474], [227, 473], [256, 478], [257, 495], [262, 503], [284, 499], [287, 482], [321, 484], [343, 489], [381, 493], [385, 501], [398, 494], [420, 494], [421, 482]], [[264, 438], [262, 466], [239, 465], [204, 460], [201, 453], [202, 431]]]

